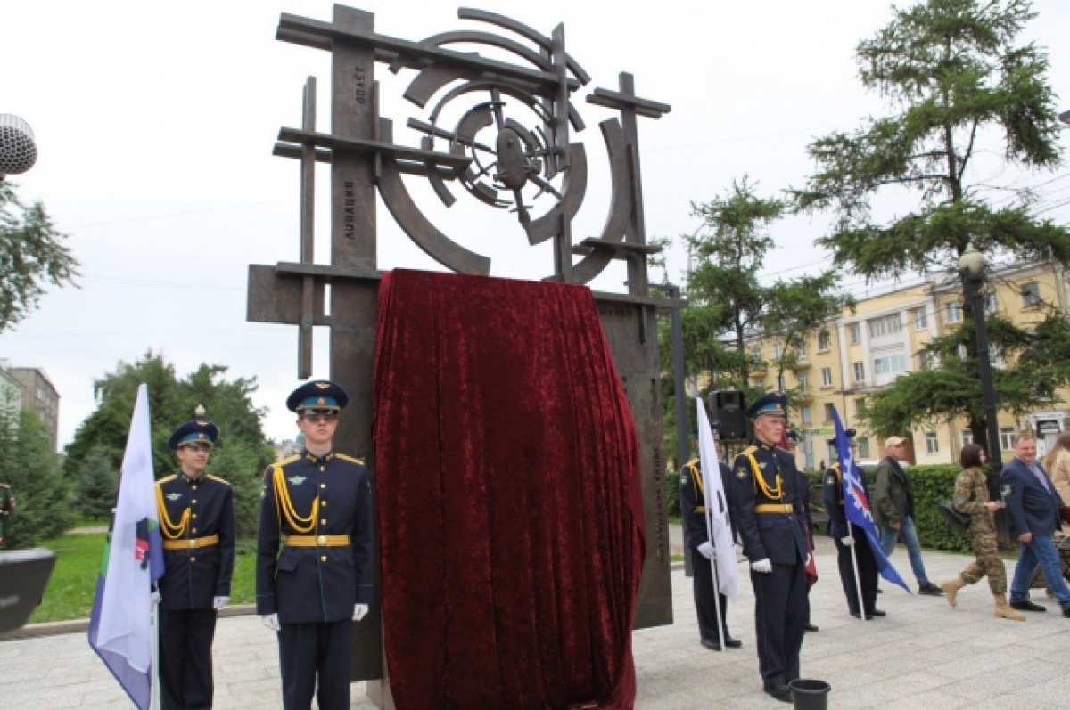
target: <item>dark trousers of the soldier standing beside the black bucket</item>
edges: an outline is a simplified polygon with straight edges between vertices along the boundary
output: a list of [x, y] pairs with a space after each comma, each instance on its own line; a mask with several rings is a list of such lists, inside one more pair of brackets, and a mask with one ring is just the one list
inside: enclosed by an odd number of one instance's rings
[[754, 630], [758, 670], [769, 685], [784, 685], [799, 677], [806, 617], [806, 568], [774, 564], [771, 572], [751, 570], [754, 588]]

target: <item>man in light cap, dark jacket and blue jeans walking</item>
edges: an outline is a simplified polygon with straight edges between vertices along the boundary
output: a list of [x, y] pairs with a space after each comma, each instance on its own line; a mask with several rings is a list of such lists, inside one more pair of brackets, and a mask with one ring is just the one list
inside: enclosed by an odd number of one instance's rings
[[929, 581], [921, 561], [921, 542], [914, 526], [914, 487], [900, 461], [906, 460], [906, 439], [889, 436], [884, 441], [885, 458], [876, 466], [876, 491], [873, 495], [873, 523], [881, 530], [881, 547], [891, 557], [896, 541], [903, 539], [911, 569], [918, 580], [918, 593], [943, 597], [944, 590]]

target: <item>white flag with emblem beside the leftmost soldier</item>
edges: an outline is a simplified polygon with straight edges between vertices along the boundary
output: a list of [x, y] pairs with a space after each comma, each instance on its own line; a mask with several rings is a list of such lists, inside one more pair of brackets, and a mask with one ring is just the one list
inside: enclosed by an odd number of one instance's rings
[[152, 583], [164, 571], [156, 515], [149, 390], [140, 385], [119, 479], [119, 498], [97, 580], [89, 644], [144, 710], [152, 689]]

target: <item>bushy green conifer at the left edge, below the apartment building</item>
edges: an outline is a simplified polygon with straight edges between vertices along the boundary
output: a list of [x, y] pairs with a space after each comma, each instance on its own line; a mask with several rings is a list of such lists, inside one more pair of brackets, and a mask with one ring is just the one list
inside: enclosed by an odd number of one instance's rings
[[51, 448], [36, 413], [0, 407], [0, 481], [10, 483], [18, 499], [10, 547], [31, 547], [74, 524], [70, 479], [60, 474]]

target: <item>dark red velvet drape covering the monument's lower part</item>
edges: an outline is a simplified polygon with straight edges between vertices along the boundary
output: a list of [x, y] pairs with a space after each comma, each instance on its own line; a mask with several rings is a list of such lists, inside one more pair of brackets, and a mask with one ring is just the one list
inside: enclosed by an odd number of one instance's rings
[[395, 271], [374, 467], [400, 710], [631, 708], [631, 412], [584, 287]]

